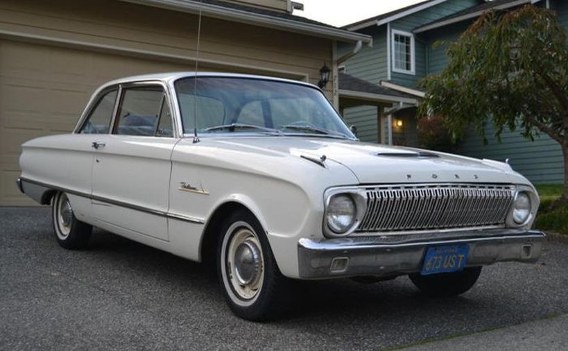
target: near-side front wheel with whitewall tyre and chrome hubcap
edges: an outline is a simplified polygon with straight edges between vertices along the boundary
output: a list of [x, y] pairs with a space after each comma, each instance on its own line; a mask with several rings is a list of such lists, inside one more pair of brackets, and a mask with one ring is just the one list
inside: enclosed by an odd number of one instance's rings
[[289, 280], [280, 273], [261, 225], [250, 212], [225, 220], [217, 252], [223, 295], [237, 316], [273, 319], [289, 306]]

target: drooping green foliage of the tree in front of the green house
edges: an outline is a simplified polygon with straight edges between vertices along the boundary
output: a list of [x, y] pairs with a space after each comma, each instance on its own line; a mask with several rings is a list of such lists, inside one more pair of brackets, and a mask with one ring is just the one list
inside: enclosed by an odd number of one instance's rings
[[544, 132], [560, 143], [566, 162], [568, 50], [553, 11], [526, 5], [488, 12], [448, 44], [447, 55], [445, 70], [420, 82], [420, 114], [441, 114], [457, 136], [472, 126], [485, 137], [489, 121], [498, 138], [504, 128], [531, 139]]

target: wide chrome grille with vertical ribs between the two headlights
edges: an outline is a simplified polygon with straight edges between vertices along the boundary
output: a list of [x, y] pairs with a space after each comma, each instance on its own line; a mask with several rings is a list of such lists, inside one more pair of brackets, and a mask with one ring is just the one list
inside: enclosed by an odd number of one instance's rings
[[357, 232], [402, 232], [503, 225], [513, 185], [389, 185], [365, 188]]

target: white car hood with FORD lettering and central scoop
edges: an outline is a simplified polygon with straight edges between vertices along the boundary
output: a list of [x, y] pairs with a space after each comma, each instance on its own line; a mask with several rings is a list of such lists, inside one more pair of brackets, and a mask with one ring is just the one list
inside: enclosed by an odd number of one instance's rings
[[313, 160], [325, 156], [325, 162], [338, 162], [350, 169], [361, 184], [528, 183], [523, 176], [503, 162], [478, 160], [418, 148], [317, 137], [234, 137], [218, 139], [218, 142], [225, 147], [234, 145], [239, 148], [249, 148], [251, 152], [273, 151], [297, 157], [309, 157]]

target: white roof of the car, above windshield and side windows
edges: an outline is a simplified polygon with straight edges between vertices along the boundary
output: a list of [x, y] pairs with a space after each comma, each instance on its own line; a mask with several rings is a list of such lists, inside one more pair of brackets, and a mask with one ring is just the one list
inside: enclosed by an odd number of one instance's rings
[[115, 80], [111, 80], [103, 84], [99, 90], [105, 89], [105, 87], [109, 87], [111, 85], [119, 85], [119, 84], [126, 84], [126, 83], [135, 83], [135, 82], [144, 82], [148, 80], [158, 80], [164, 83], [170, 83], [173, 80], [178, 80], [180, 78], [191, 78], [191, 77], [220, 77], [220, 78], [248, 78], [248, 79], [261, 79], [261, 80], [273, 80], [276, 82], [283, 82], [283, 83], [293, 83], [298, 85], [306, 85], [308, 87], [316, 87], [316, 85], [309, 84], [306, 82], [302, 82], [301, 80], [293, 80], [293, 79], [286, 79], [286, 78], [276, 78], [270, 76], [256, 76], [253, 74], [234, 74], [234, 73], [223, 73], [223, 72], [166, 72], [166, 73], [155, 73], [155, 74], [142, 74], [139, 76], [130, 76], [119, 78]]

